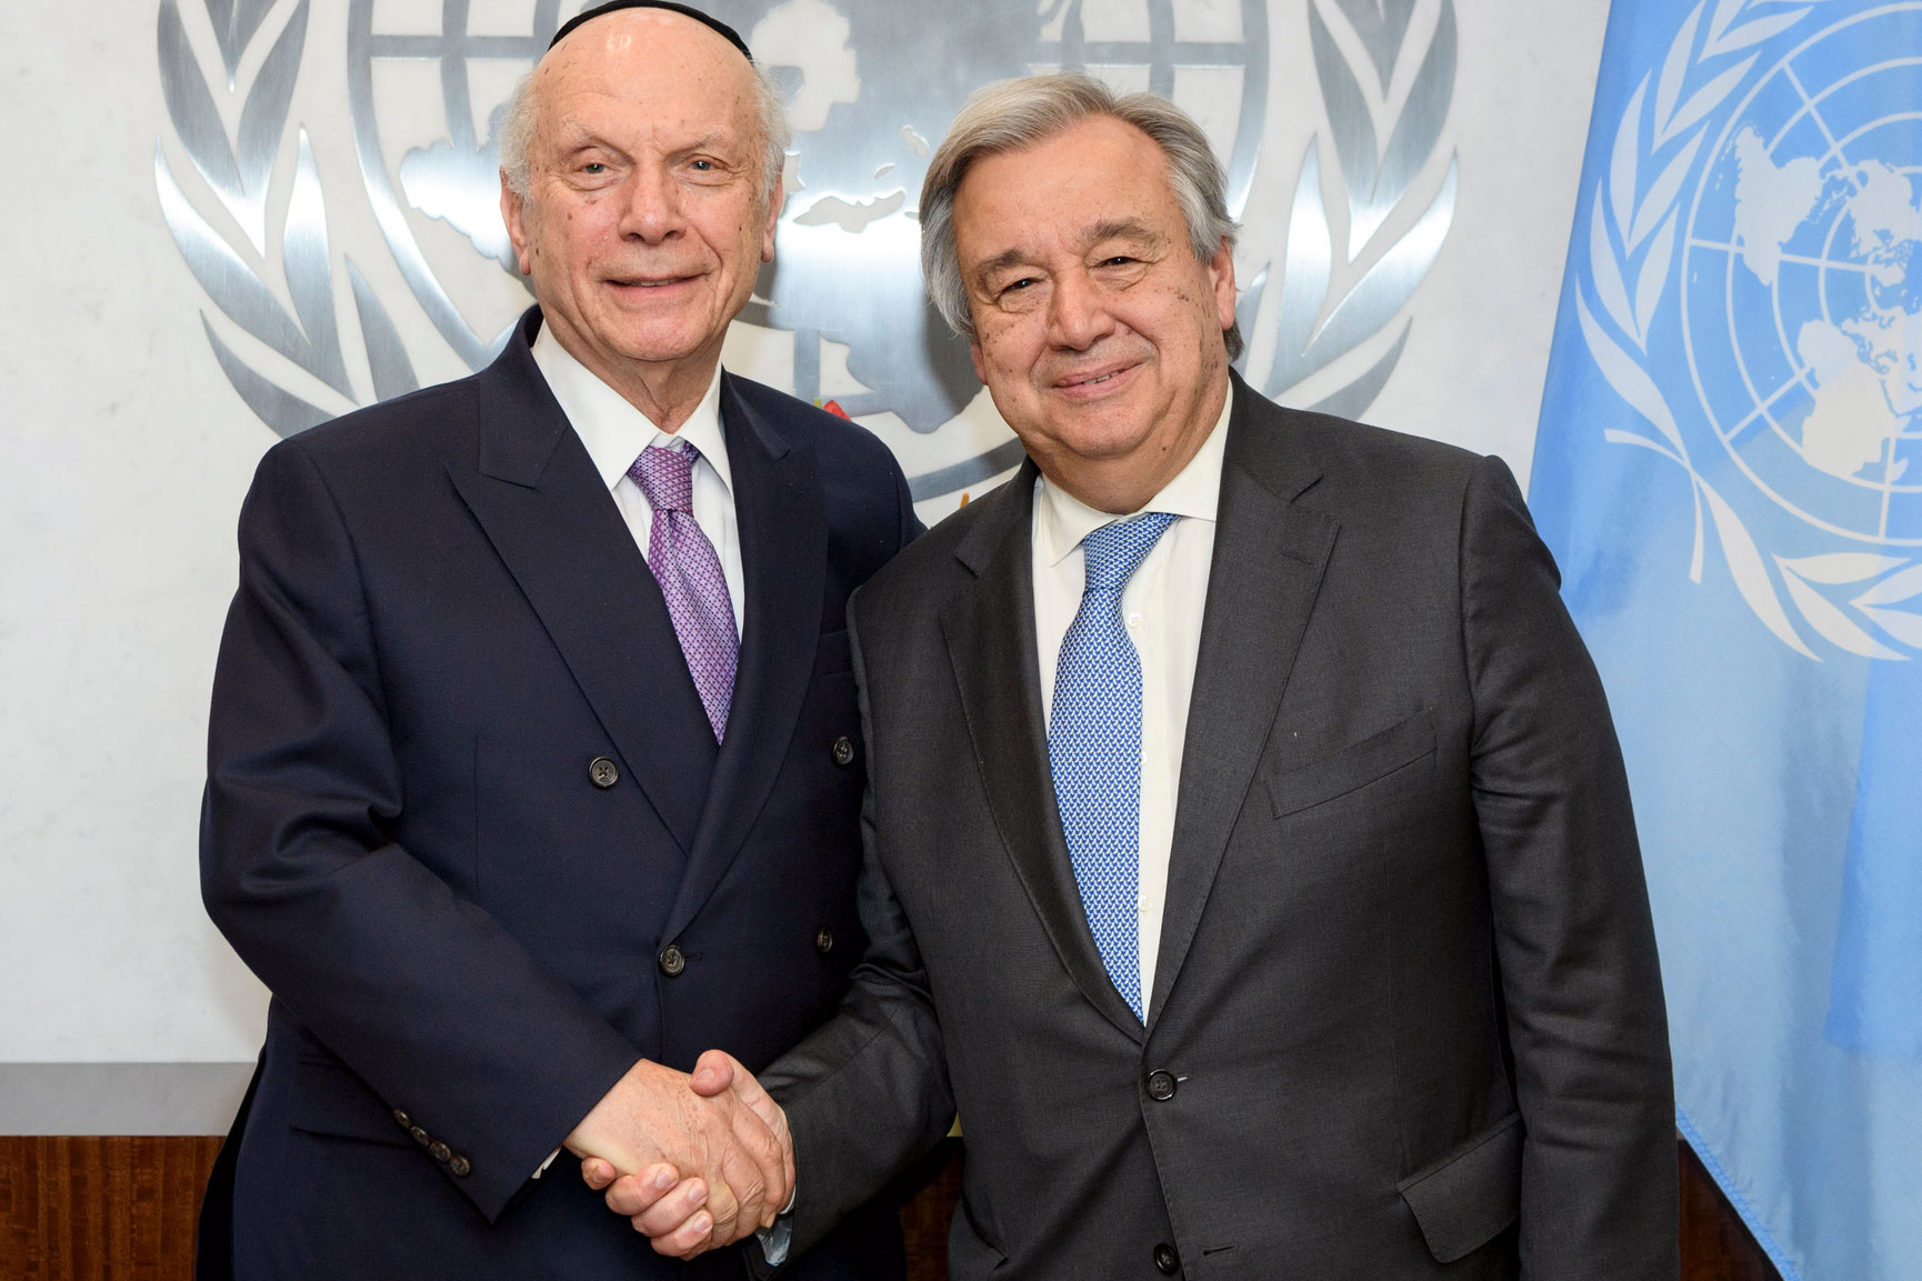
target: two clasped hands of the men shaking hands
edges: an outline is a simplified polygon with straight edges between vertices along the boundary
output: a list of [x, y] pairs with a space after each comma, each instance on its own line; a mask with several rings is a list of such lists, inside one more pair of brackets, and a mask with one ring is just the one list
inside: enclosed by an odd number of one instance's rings
[[565, 1146], [607, 1208], [673, 1258], [773, 1227], [794, 1191], [786, 1114], [721, 1050], [692, 1075], [640, 1060]]

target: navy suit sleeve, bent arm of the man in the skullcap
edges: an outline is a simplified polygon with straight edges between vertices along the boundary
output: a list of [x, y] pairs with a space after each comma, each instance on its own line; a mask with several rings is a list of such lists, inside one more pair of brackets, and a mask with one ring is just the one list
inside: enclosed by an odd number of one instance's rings
[[465, 1158], [465, 1177], [438, 1164], [496, 1219], [638, 1052], [394, 841], [406, 804], [357, 552], [290, 440], [240, 514], [202, 894], [275, 998]]

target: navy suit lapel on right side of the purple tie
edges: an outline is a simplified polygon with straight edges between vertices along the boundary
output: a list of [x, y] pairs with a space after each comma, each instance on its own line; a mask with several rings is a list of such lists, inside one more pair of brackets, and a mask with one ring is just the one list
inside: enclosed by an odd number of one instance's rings
[[[669, 912], [673, 939], [740, 854], [788, 754], [821, 637], [828, 523], [807, 448], [788, 442], [721, 379], [721, 421], [734, 479], [746, 589], [744, 637], [728, 729]], [[826, 752], [826, 744], [821, 748]]]

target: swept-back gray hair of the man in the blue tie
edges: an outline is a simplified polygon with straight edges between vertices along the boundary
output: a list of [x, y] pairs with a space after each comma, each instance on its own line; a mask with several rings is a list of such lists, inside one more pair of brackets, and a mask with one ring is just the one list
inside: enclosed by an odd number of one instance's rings
[[[955, 250], [955, 192], [976, 160], [1019, 152], [1067, 133], [1084, 119], [1111, 115], [1134, 125], [1169, 158], [1169, 187], [1188, 225], [1188, 246], [1209, 262], [1222, 242], [1234, 250], [1240, 225], [1228, 217], [1228, 177], [1207, 135], [1186, 112], [1155, 94], [1117, 94], [1092, 75], [1028, 75], [980, 88], [942, 138], [921, 183], [921, 271], [942, 319], [963, 339], [974, 337], [967, 285]], [[1222, 335], [1228, 360], [1242, 354], [1242, 327]]]

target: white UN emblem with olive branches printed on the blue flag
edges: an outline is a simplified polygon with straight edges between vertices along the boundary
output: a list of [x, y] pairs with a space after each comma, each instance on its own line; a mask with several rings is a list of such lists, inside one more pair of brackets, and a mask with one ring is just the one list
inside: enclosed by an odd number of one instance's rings
[[[1588, 217], [1588, 348], [1784, 644], [1922, 650], [1922, 4], [1703, 0]], [[1709, 519], [1703, 521], [1707, 510]]]

